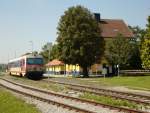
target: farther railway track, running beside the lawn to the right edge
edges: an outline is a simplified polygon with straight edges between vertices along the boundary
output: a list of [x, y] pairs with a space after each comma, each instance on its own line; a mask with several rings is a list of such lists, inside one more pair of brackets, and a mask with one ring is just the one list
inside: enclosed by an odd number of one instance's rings
[[116, 99], [128, 100], [128, 101], [132, 101], [132, 102], [135, 102], [138, 104], [144, 104], [144, 105], [150, 106], [150, 96], [126, 93], [126, 92], [120, 92], [120, 91], [114, 91], [114, 90], [108, 90], [108, 89], [102, 89], [102, 88], [89, 87], [89, 86], [79, 85], [79, 84], [70, 84], [70, 83], [58, 82], [58, 81], [52, 81], [52, 80], [43, 80], [43, 81], [67, 85], [67, 86], [69, 86], [68, 87], [69, 89], [75, 90], [75, 91], [87, 92], [87, 93], [96, 94], [96, 95], [109, 96], [109, 97], [113, 97]]

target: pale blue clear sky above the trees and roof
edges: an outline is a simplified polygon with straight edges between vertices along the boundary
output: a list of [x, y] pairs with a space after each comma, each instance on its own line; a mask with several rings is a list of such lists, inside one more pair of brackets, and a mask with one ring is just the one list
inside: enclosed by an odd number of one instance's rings
[[150, 15], [150, 0], [0, 0], [0, 63], [54, 43], [60, 17], [76, 5], [141, 28]]

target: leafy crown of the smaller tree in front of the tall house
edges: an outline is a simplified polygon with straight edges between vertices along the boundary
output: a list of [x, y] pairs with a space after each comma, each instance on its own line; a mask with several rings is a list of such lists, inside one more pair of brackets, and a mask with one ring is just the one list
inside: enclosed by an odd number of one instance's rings
[[129, 40], [121, 34], [106, 44], [106, 59], [110, 64], [125, 65], [128, 63], [131, 53]]

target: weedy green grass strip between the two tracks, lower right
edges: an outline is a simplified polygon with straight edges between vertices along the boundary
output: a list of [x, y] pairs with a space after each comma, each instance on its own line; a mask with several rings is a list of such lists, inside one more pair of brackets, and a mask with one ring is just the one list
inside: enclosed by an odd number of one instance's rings
[[80, 98], [93, 100], [93, 101], [100, 102], [103, 104], [119, 106], [119, 107], [121, 106], [121, 107], [132, 108], [132, 109], [140, 109], [141, 108], [141, 105], [132, 103], [132, 102], [129, 102], [126, 100], [114, 99], [111, 97], [98, 96], [98, 95], [88, 94], [88, 93], [84, 93], [84, 94], [80, 95]]

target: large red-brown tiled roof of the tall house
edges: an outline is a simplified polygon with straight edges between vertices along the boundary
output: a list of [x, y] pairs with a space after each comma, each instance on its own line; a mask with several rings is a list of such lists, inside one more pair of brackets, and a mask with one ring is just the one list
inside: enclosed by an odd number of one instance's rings
[[100, 27], [101, 36], [104, 38], [113, 38], [116, 37], [118, 34], [122, 34], [124, 37], [127, 38], [133, 37], [133, 33], [123, 20], [101, 19]]

